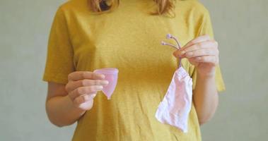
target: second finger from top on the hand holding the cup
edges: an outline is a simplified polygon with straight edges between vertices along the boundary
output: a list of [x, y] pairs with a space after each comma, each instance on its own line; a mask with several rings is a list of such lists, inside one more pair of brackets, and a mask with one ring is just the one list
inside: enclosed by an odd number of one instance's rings
[[65, 89], [67, 92], [71, 92], [75, 90], [78, 87], [83, 87], [83, 86], [90, 86], [90, 85], [107, 85], [109, 82], [107, 80], [78, 80], [78, 81], [70, 81], [67, 83]]

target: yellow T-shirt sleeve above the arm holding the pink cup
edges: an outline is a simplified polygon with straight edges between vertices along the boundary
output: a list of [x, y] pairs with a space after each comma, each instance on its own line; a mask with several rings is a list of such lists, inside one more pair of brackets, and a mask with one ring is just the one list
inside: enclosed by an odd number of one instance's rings
[[69, 73], [74, 71], [74, 50], [62, 8], [59, 7], [50, 29], [47, 61], [42, 80], [66, 84]]

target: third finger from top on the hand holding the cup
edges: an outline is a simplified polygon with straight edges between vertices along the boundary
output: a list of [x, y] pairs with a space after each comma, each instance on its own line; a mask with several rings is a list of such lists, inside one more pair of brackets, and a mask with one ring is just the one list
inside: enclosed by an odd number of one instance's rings
[[71, 99], [75, 99], [76, 97], [79, 97], [83, 94], [95, 94], [96, 92], [103, 90], [102, 85], [92, 85], [92, 86], [86, 86], [86, 87], [78, 87], [76, 90], [73, 90], [69, 93], [69, 97]]

